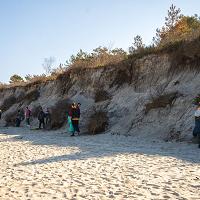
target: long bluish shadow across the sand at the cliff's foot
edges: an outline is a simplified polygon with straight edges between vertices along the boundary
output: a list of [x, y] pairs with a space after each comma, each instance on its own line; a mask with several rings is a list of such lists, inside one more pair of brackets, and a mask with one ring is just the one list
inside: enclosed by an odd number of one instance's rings
[[149, 140], [142, 137], [112, 136], [101, 134], [70, 137], [62, 131], [30, 131], [22, 128], [1, 128], [1, 134], [11, 137], [0, 142], [29, 141], [32, 145], [54, 145], [58, 147], [78, 148], [72, 154], [50, 156], [44, 159], [18, 163], [17, 165], [47, 164], [67, 160], [84, 160], [118, 154], [143, 154], [149, 156], [168, 156], [190, 163], [200, 163], [200, 149], [195, 144], [171, 143], [161, 140]]

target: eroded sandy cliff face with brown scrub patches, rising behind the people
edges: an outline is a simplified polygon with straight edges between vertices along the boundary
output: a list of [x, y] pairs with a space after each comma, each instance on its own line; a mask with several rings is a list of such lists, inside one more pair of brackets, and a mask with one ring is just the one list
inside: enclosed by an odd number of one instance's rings
[[[95, 123], [101, 111], [108, 118], [106, 131], [113, 134], [167, 140], [190, 137], [195, 108], [192, 100], [200, 91], [199, 49], [198, 44], [193, 53], [177, 50], [177, 57], [160, 53], [117, 66], [71, 69], [55, 81], [1, 90], [1, 125], [13, 125], [17, 110], [28, 105], [33, 125], [42, 106], [52, 110], [51, 128], [64, 127], [68, 105], [75, 101], [82, 104], [82, 132], [88, 132], [88, 124], [91, 120]], [[94, 126], [101, 123], [96, 120]]]

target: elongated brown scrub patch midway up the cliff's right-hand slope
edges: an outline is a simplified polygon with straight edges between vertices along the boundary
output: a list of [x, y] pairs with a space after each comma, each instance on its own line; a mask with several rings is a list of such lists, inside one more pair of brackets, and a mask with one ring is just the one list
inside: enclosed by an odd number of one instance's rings
[[156, 109], [156, 108], [165, 108], [168, 105], [172, 106], [175, 102], [175, 100], [181, 96], [178, 92], [171, 92], [168, 94], [161, 95], [159, 97], [153, 98], [152, 102], [147, 103], [145, 105], [145, 114], [147, 114], [150, 110]]

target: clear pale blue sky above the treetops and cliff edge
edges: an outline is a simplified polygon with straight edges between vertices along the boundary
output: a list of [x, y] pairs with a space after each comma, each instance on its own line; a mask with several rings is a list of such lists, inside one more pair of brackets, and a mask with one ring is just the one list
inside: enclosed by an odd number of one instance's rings
[[172, 3], [200, 14], [199, 0], [0, 0], [0, 81], [44, 73], [44, 58], [58, 65], [80, 48], [127, 50], [137, 34], [150, 44]]

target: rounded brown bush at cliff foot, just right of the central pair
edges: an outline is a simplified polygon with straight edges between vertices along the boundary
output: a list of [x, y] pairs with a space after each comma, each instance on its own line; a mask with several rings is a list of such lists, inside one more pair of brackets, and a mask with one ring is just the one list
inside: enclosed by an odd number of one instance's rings
[[90, 116], [88, 123], [88, 132], [90, 134], [99, 134], [105, 132], [108, 127], [108, 116], [104, 111], [95, 111]]

